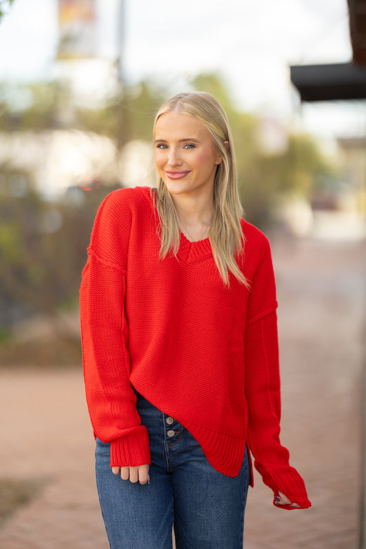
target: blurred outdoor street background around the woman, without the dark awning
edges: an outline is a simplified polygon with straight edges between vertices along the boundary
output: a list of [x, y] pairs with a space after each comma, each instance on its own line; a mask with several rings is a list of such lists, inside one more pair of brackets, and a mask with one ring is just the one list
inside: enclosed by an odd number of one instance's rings
[[364, 546], [365, 21], [361, 0], [0, 0], [1, 547], [106, 547], [80, 275], [98, 205], [154, 186], [155, 112], [189, 90], [227, 111], [273, 246], [284, 437], [318, 504], [274, 533], [258, 486], [245, 547]]

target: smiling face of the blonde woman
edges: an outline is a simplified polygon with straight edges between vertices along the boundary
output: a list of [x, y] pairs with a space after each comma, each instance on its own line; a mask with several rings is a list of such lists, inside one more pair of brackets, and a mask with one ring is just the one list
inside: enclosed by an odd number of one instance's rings
[[221, 155], [211, 134], [193, 116], [171, 111], [155, 125], [155, 164], [174, 195], [214, 194], [214, 179]]

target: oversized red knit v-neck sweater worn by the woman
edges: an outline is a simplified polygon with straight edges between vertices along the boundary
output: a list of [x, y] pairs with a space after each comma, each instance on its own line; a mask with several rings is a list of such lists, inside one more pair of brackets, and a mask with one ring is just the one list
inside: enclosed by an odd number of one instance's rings
[[[150, 463], [133, 387], [198, 440], [211, 465], [238, 475], [245, 445], [264, 482], [301, 508], [304, 481], [279, 442], [275, 278], [267, 238], [242, 220], [238, 265], [250, 291], [225, 287], [209, 238], [181, 234], [159, 259], [150, 188], [104, 199], [82, 273], [84, 378], [94, 435], [111, 442], [111, 466]], [[289, 506], [286, 506], [289, 508]]]

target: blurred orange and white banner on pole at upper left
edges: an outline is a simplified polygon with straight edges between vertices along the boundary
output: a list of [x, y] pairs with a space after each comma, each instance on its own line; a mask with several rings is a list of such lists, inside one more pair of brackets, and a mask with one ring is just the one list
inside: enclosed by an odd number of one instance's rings
[[95, 57], [95, 0], [58, 0], [58, 59]]

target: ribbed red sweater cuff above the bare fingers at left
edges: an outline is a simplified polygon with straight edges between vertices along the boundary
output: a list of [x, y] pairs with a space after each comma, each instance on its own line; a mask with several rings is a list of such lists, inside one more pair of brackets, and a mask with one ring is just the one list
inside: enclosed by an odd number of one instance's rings
[[151, 463], [148, 429], [145, 425], [111, 441], [111, 467], [137, 467]]

